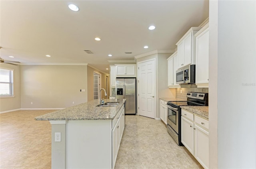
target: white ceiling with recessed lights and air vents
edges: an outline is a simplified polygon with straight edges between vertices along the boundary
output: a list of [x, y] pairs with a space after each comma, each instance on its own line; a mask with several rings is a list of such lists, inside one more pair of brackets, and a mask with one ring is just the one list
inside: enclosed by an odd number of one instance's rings
[[[71, 3], [80, 10], [71, 11]], [[108, 73], [108, 60], [175, 49], [190, 27], [208, 18], [208, 11], [208, 0], [1, 0], [0, 56], [25, 65], [88, 63]], [[156, 29], [150, 31], [150, 25]]]

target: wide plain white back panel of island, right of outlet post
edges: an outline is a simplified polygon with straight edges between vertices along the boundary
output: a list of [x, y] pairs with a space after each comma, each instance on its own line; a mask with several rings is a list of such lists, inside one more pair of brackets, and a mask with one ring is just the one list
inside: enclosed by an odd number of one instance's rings
[[67, 122], [67, 168], [112, 168], [112, 120]]

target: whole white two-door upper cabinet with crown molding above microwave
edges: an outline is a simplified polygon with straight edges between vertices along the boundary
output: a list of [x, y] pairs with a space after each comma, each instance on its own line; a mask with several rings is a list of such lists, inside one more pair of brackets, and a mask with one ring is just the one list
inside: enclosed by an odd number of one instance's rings
[[178, 46], [178, 69], [189, 64], [195, 64], [196, 39], [194, 37], [194, 34], [200, 29], [201, 28], [198, 27], [190, 28], [187, 33], [176, 43], [176, 45]]

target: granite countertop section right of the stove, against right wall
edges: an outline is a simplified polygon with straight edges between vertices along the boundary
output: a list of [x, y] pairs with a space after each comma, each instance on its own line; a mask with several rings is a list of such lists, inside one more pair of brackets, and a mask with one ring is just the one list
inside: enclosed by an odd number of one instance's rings
[[181, 108], [209, 120], [208, 106], [181, 106]]

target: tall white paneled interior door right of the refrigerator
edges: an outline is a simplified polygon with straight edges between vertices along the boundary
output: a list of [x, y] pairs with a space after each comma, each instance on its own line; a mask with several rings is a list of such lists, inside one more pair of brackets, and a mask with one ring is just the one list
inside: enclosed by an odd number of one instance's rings
[[145, 61], [138, 64], [139, 108], [141, 116], [155, 118], [155, 86], [156, 69], [155, 60]]

